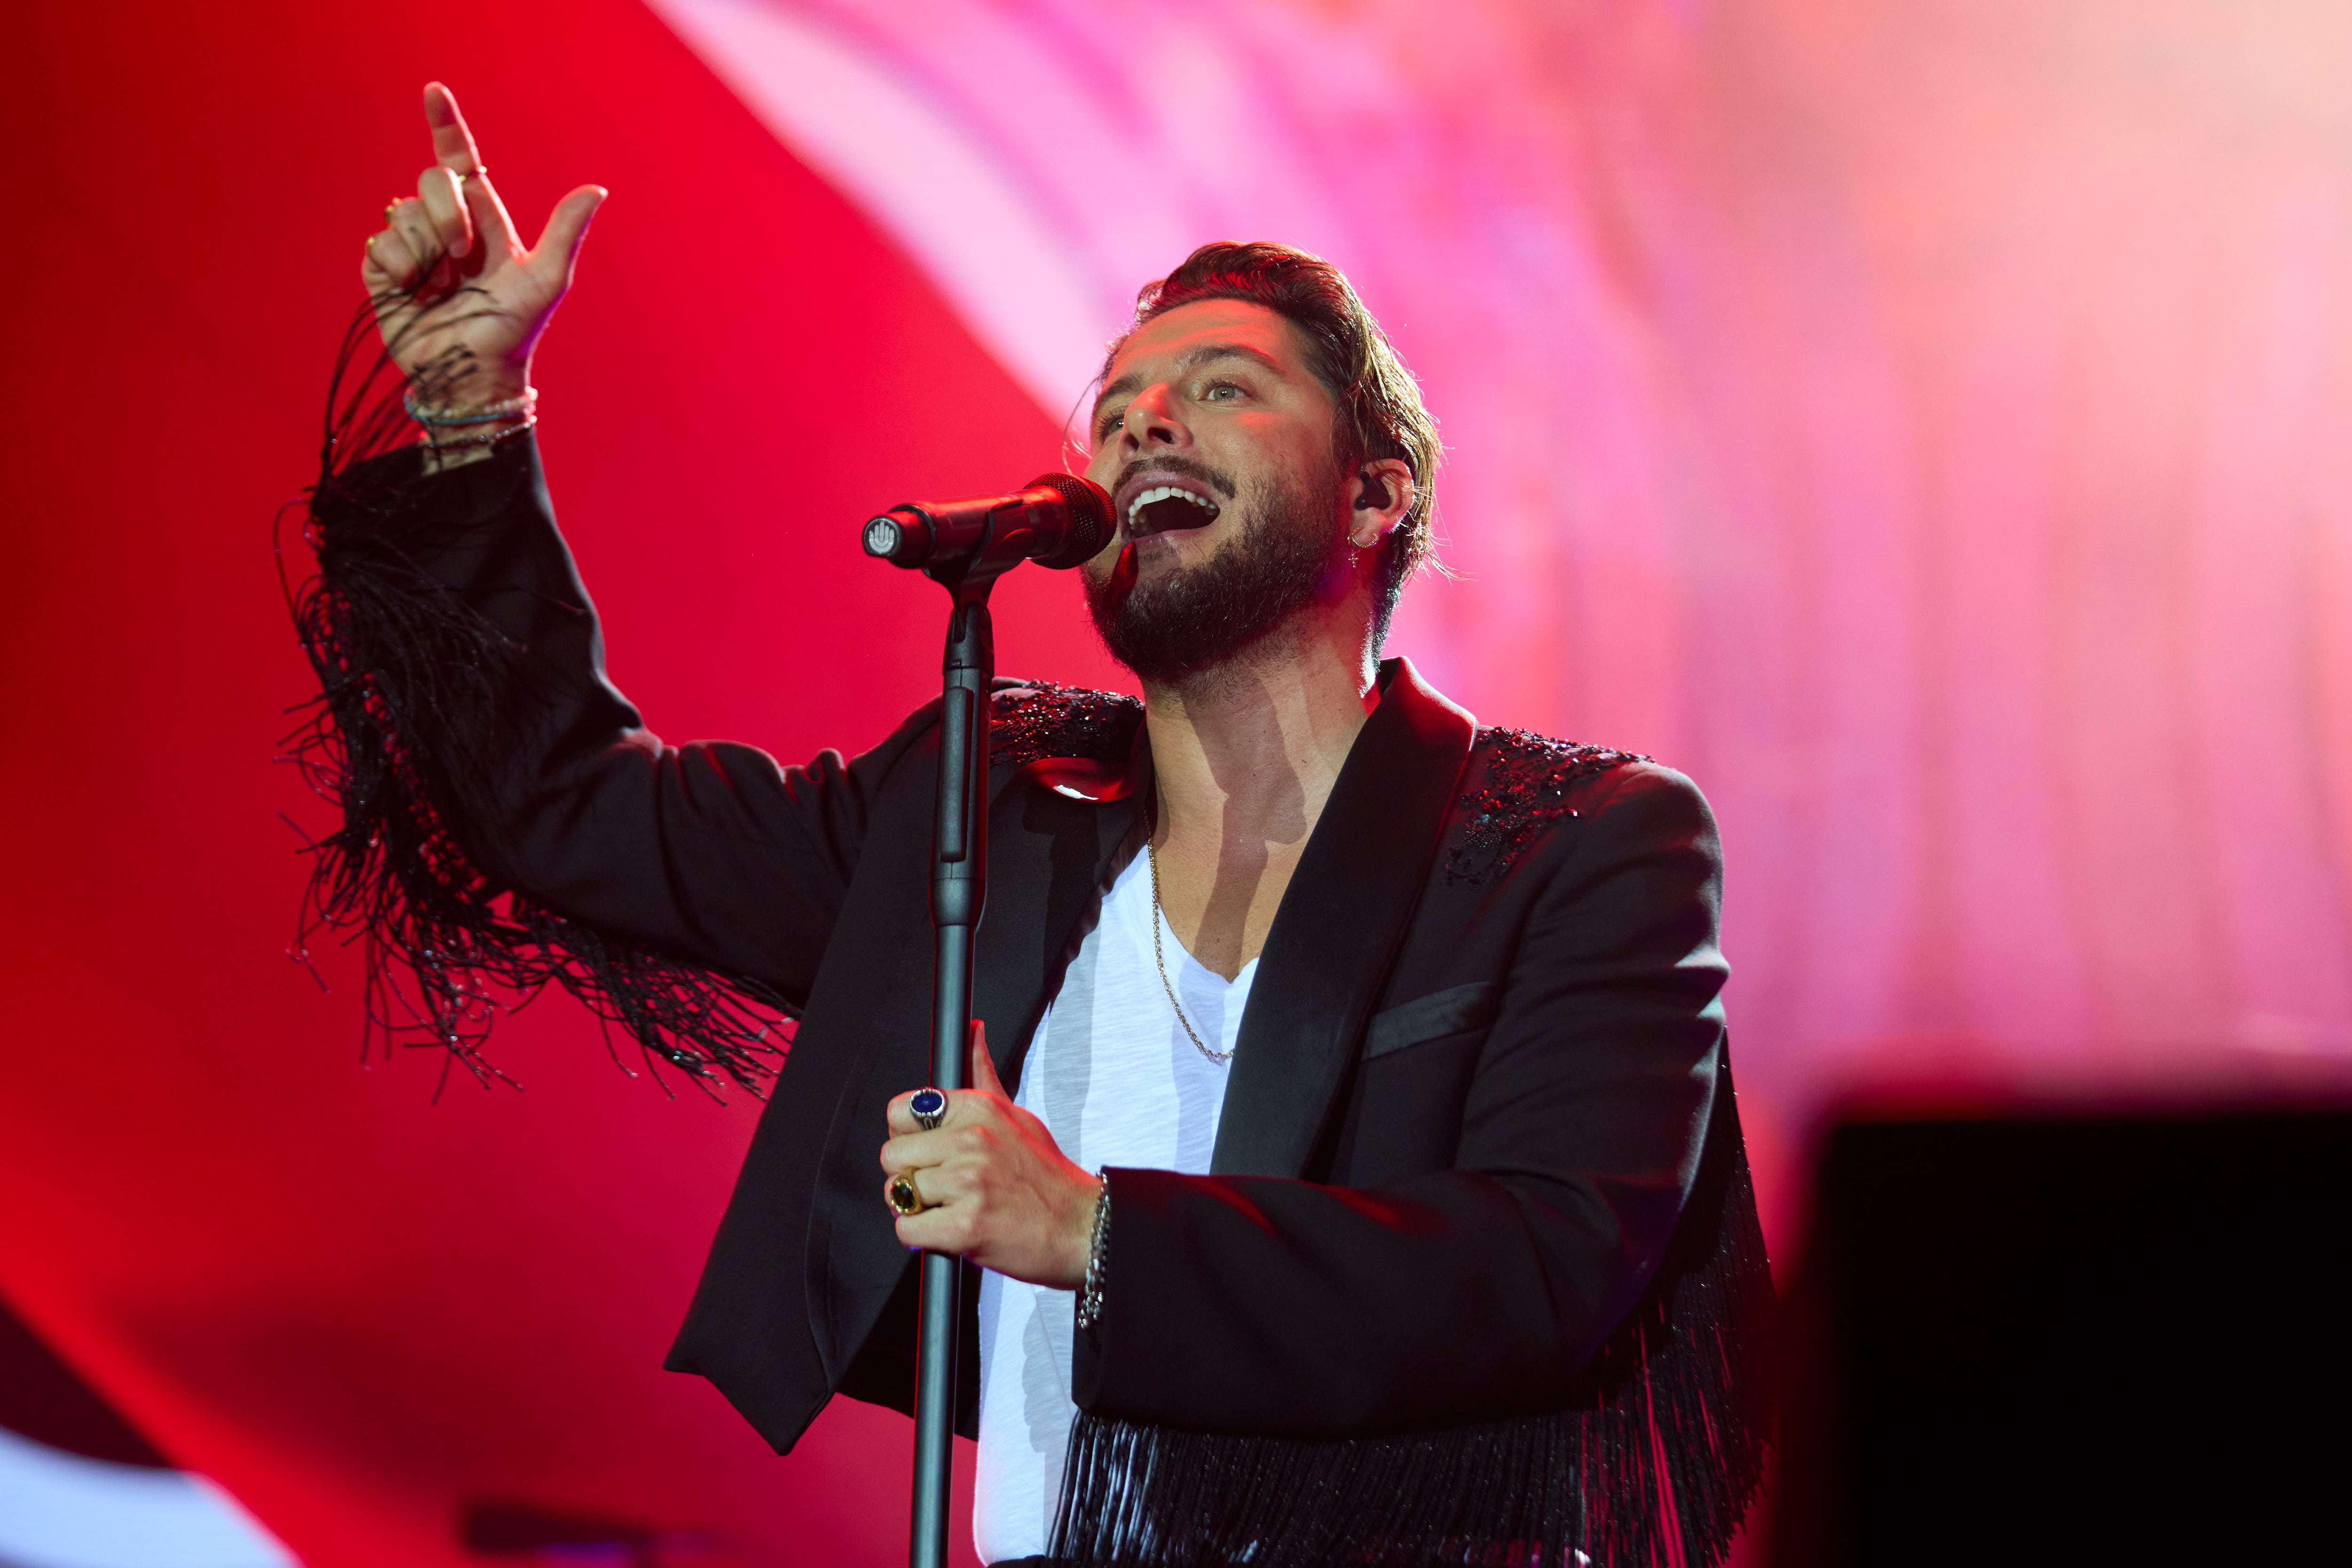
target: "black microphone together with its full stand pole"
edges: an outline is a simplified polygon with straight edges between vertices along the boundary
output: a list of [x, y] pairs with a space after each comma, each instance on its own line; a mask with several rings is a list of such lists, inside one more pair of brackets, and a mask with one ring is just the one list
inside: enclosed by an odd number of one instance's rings
[[[1042, 496], [1040, 491], [1051, 491]], [[1068, 512], [1044, 543], [1033, 508]], [[988, 696], [997, 675], [988, 592], [1037, 557], [1075, 567], [1110, 538], [1110, 496], [1087, 480], [1047, 475], [1018, 496], [981, 503], [901, 505], [866, 524], [868, 555], [920, 567], [948, 590], [946, 689], [938, 710], [938, 816], [931, 825], [931, 1086], [964, 1088], [971, 1041], [971, 950], [988, 903]], [[915, 1328], [915, 1502], [910, 1568], [948, 1566], [948, 1472], [955, 1436], [955, 1328], [962, 1319], [962, 1260], [922, 1255]]]

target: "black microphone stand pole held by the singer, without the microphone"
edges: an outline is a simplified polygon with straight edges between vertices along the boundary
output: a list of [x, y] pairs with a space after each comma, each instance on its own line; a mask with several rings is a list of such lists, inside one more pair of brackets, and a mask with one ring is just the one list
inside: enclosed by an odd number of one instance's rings
[[[993, 534], [995, 529], [990, 529]], [[988, 693], [997, 675], [988, 590], [1011, 559], [983, 545], [927, 569], [955, 599], [948, 611], [946, 691], [938, 710], [938, 816], [931, 827], [931, 1086], [967, 1086], [971, 950], [988, 903]], [[962, 1258], [922, 1255], [915, 1331], [915, 1505], [910, 1568], [948, 1568], [948, 1474], [955, 1462], [955, 1331]]]

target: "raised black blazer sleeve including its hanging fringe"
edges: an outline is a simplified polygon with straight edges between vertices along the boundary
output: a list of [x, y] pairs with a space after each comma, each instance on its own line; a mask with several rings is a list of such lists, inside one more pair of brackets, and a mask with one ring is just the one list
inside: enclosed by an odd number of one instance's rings
[[[532, 437], [423, 473], [353, 324], [289, 583], [318, 696], [287, 750], [336, 811], [301, 938], [358, 940], [369, 1039], [477, 1077], [548, 983], [703, 1088], [776, 1070], [863, 837], [870, 771], [668, 748], [604, 679]], [[889, 748], [884, 748], [887, 752]]]

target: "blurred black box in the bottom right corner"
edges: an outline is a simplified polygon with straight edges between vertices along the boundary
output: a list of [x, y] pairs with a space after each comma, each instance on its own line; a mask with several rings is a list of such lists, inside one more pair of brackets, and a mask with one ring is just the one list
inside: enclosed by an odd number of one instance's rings
[[2352, 1563], [2352, 1114], [1839, 1126], [1773, 1568]]

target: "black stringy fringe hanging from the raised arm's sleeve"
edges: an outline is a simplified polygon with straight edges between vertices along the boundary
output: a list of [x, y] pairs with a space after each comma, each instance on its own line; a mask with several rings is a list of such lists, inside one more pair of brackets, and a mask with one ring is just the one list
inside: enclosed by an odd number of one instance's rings
[[[306, 846], [310, 884], [289, 954], [308, 964], [320, 931], [358, 940], [362, 1056], [379, 1041], [442, 1048], [445, 1081], [449, 1065], [510, 1081], [482, 1053], [492, 1025], [555, 983], [597, 1016], [616, 1063], [614, 1027], [637, 1041], [656, 1081], [668, 1063], [706, 1093], [727, 1079], [760, 1095], [790, 1041], [795, 1011], [781, 994], [506, 893], [452, 832], [456, 780], [480, 780], [463, 738], [487, 731], [499, 682], [517, 675], [515, 649], [400, 545], [421, 473], [397, 456], [414, 428], [400, 407], [407, 383], [376, 346], [386, 303], [372, 299], [343, 336], [320, 477], [299, 503], [318, 571], [296, 585], [278, 552], [320, 684], [289, 710], [299, 724], [282, 759], [341, 816]], [[461, 357], [428, 364], [419, 395], [442, 402], [466, 371]]]

